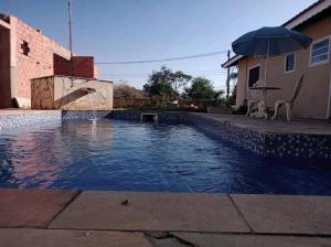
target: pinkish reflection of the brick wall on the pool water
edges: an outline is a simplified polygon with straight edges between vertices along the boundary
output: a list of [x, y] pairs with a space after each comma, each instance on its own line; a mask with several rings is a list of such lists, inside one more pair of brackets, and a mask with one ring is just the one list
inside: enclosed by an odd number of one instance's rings
[[64, 144], [60, 129], [31, 132], [25, 129], [14, 138], [7, 136], [6, 147], [1, 144], [1, 176], [9, 172], [7, 176], [10, 179], [3, 182], [19, 187], [29, 187], [30, 184], [49, 187], [57, 179], [62, 167], [72, 162], [67, 150], [60, 152], [55, 147]]

